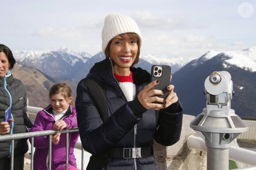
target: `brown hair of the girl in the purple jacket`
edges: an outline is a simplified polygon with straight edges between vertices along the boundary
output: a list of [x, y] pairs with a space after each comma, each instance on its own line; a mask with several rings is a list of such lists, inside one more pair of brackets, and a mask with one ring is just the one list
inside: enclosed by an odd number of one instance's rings
[[[67, 83], [56, 83], [54, 84], [49, 91], [49, 98], [51, 98], [54, 94], [59, 94], [68, 100], [68, 98], [72, 97], [72, 90]], [[71, 101], [73, 105], [73, 100]]]

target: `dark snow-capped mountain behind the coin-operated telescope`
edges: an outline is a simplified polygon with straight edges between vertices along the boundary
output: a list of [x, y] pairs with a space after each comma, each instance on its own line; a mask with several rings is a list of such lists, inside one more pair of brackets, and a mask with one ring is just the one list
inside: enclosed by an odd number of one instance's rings
[[197, 116], [206, 107], [204, 81], [214, 71], [230, 72], [235, 95], [231, 108], [236, 114], [256, 117], [256, 47], [241, 51], [209, 51], [173, 74], [184, 113]]

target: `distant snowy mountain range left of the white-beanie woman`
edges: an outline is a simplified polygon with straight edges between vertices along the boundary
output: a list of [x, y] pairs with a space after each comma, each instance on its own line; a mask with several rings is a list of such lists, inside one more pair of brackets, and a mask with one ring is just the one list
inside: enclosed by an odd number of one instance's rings
[[71, 80], [92, 57], [88, 53], [76, 53], [68, 48], [60, 48], [57, 51], [13, 51], [13, 53], [17, 61], [33, 66], [48, 76]]

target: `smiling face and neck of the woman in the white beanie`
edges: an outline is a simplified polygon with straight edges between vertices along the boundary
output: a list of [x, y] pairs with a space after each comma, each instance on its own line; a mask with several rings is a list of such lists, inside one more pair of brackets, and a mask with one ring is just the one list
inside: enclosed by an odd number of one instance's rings
[[114, 61], [114, 73], [129, 76], [130, 67], [136, 59], [138, 44], [136, 40], [115, 36], [109, 46], [110, 58]]

